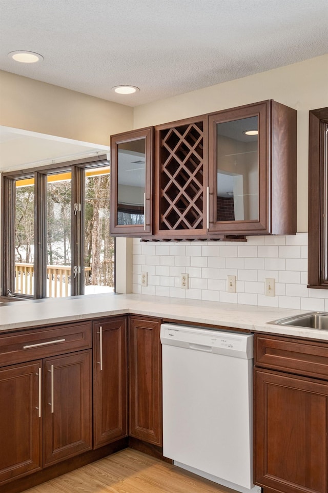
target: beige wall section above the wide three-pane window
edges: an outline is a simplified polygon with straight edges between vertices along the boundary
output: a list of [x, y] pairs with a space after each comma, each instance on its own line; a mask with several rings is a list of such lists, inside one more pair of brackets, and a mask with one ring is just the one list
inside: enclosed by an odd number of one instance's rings
[[94, 144], [133, 125], [133, 108], [0, 71], [0, 125]]

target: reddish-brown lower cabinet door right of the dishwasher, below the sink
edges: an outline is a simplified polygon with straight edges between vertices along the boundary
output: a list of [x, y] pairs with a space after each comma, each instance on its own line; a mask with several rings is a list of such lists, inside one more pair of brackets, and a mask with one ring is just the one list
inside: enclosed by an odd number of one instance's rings
[[328, 487], [328, 383], [255, 371], [255, 482], [296, 493]]

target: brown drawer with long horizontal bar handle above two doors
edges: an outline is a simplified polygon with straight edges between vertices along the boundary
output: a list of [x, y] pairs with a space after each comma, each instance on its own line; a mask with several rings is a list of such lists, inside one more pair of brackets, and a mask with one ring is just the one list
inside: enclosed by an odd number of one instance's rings
[[0, 336], [0, 366], [91, 348], [91, 322]]

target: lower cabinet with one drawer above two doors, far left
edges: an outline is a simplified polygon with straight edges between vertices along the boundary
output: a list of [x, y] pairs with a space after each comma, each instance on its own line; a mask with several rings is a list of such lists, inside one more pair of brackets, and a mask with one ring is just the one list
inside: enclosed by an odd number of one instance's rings
[[92, 448], [89, 348], [88, 321], [1, 334], [1, 484]]

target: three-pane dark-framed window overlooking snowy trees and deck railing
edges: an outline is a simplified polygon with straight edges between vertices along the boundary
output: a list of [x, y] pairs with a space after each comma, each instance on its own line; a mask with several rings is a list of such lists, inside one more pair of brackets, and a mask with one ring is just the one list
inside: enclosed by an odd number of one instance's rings
[[109, 163], [3, 176], [3, 293], [64, 297], [114, 290]]

